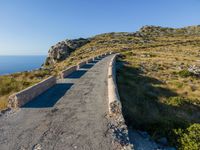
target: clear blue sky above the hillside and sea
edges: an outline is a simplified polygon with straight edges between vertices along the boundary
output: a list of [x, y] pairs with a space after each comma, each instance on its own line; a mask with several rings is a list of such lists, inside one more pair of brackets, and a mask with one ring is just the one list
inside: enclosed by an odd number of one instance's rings
[[60, 40], [200, 24], [200, 0], [0, 0], [0, 55], [45, 55]]

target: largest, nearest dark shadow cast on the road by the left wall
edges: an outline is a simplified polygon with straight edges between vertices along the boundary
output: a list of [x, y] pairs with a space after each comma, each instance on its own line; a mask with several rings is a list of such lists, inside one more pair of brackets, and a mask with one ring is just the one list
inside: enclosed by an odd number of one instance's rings
[[58, 100], [71, 88], [72, 83], [59, 83], [36, 97], [29, 103], [25, 104], [23, 108], [45, 108], [53, 107]]

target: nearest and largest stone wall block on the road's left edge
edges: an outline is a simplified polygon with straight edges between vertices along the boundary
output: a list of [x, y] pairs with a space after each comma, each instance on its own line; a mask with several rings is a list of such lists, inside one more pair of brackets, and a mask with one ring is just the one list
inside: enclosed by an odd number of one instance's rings
[[50, 76], [49, 78], [28, 87], [18, 93], [15, 93], [9, 97], [8, 107], [10, 108], [18, 108], [28, 103], [35, 97], [39, 96], [53, 85], [56, 84], [56, 77]]

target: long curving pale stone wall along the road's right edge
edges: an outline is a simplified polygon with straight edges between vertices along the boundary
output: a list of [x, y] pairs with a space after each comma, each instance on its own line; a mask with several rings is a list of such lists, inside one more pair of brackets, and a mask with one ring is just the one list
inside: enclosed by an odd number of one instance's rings
[[[116, 57], [111, 59], [108, 67], [108, 106], [110, 116], [110, 130], [113, 134], [114, 143], [120, 149], [131, 150], [133, 145], [129, 141], [128, 128], [122, 115], [122, 106], [116, 84]], [[120, 136], [119, 136], [120, 135]]]

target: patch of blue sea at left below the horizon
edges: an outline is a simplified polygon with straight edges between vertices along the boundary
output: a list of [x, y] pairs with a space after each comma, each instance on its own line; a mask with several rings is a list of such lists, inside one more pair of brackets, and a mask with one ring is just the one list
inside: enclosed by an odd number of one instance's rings
[[46, 56], [0, 56], [0, 75], [40, 68]]

